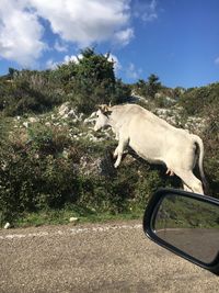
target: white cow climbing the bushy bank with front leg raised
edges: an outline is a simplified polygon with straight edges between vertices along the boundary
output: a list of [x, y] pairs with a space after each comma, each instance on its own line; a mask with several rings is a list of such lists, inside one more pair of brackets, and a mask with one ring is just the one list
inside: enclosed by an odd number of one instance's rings
[[108, 125], [118, 138], [115, 168], [119, 166], [125, 148], [130, 146], [147, 161], [164, 164], [166, 173], [178, 176], [185, 190], [204, 194], [200, 180], [193, 173], [199, 148], [198, 167], [204, 188], [207, 188], [203, 170], [204, 145], [199, 136], [170, 125], [137, 104], [101, 105], [96, 115], [94, 131]]

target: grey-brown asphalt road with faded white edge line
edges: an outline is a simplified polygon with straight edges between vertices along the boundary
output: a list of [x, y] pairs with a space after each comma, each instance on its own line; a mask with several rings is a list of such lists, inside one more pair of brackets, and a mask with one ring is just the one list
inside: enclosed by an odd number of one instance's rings
[[0, 230], [0, 292], [218, 292], [219, 278], [146, 238], [140, 222]]

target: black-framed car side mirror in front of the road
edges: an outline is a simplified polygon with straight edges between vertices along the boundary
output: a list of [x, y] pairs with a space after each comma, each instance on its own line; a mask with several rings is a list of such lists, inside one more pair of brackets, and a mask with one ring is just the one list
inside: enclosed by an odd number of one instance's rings
[[219, 200], [158, 190], [146, 209], [143, 230], [158, 245], [219, 275]]

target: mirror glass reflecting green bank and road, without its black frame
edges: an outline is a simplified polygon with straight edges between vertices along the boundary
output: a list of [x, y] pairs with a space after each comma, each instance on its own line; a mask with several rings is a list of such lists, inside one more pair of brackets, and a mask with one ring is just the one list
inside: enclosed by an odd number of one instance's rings
[[159, 206], [154, 230], [166, 243], [210, 263], [219, 252], [219, 206], [170, 194]]

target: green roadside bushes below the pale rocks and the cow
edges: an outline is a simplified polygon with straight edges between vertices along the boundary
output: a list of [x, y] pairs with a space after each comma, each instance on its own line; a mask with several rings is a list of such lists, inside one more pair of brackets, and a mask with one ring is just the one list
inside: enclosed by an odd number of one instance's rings
[[[111, 153], [113, 148], [110, 146]], [[0, 148], [0, 222], [13, 223], [25, 213], [66, 205], [112, 214], [142, 209], [149, 194], [166, 184], [164, 170], [141, 160], [127, 158], [117, 171], [106, 170], [102, 176], [79, 168], [84, 155], [89, 170], [89, 161], [94, 156], [104, 159], [106, 151], [105, 143], [72, 140], [65, 127], [39, 123], [4, 136]]]

